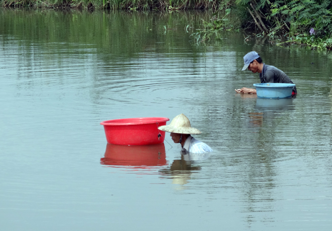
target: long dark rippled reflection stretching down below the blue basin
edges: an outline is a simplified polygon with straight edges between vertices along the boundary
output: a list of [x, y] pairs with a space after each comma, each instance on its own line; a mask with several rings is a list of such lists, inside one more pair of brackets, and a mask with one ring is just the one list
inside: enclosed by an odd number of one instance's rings
[[[241, 166], [246, 173], [243, 179], [243, 213], [246, 213], [248, 226], [257, 222], [253, 213], [275, 213], [278, 195], [275, 190], [275, 177], [280, 174], [276, 163], [288, 158], [292, 149], [288, 130], [292, 131], [291, 116], [295, 112], [293, 98], [264, 99], [257, 98], [256, 105], [249, 114], [249, 125], [256, 133], [252, 142], [255, 151]], [[252, 131], [254, 131], [252, 130]], [[280, 141], [284, 141], [280, 145]], [[285, 154], [286, 153], [286, 154]], [[285, 155], [285, 156], [284, 156]], [[260, 206], [258, 206], [260, 204]], [[264, 204], [264, 206], [263, 206]], [[275, 222], [273, 217], [265, 217], [266, 222]]]

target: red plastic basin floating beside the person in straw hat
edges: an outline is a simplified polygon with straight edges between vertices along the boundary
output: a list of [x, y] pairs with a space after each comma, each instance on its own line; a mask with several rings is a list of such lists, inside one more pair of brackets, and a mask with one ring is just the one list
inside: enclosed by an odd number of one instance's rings
[[[106, 120], [104, 125], [107, 143], [117, 145], [150, 145], [161, 144], [165, 139], [165, 132], [158, 127], [169, 121], [165, 117], [145, 117]], [[161, 136], [158, 136], [158, 135]]]

